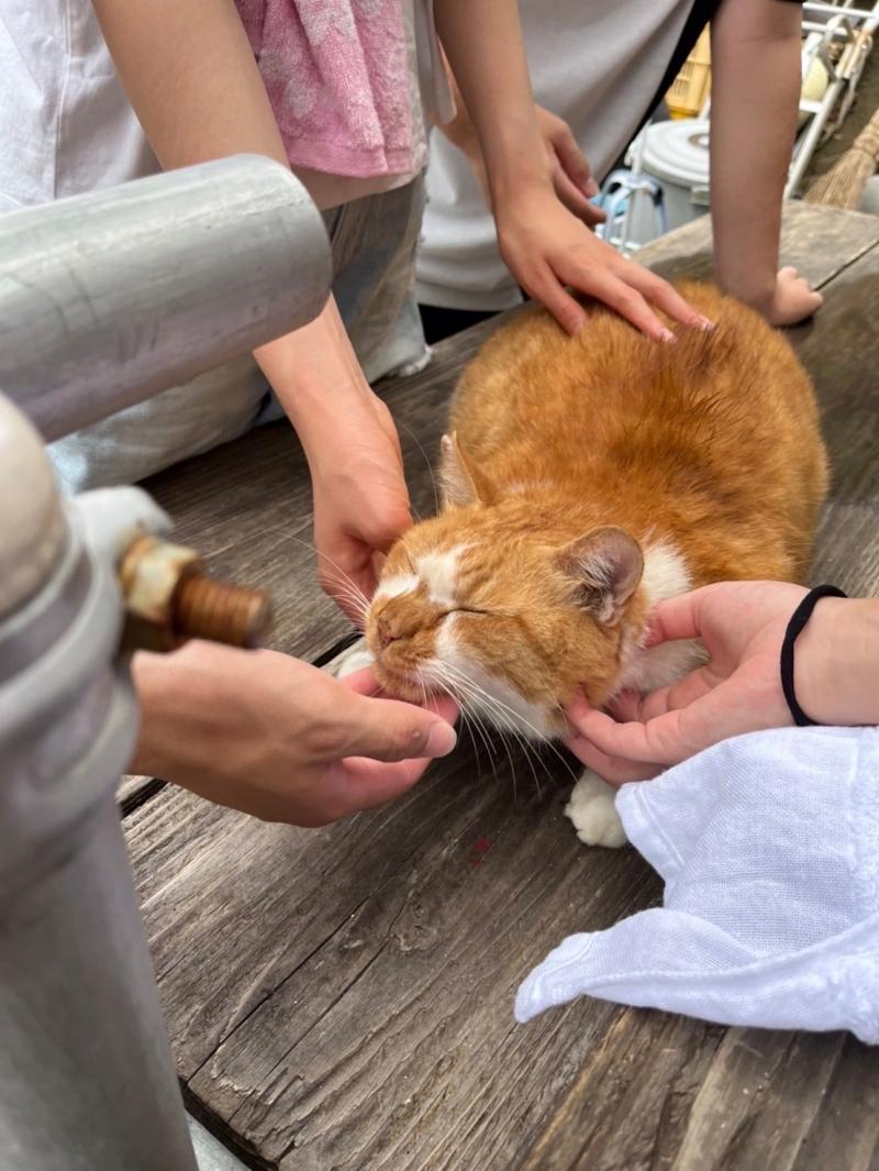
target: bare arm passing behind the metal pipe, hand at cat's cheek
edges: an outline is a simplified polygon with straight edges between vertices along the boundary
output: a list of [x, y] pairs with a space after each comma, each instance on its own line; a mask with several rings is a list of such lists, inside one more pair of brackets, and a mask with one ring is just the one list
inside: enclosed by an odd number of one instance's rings
[[[95, 0], [94, 7], [164, 167], [241, 152], [288, 165], [233, 0]], [[309, 461], [322, 583], [356, 617], [359, 607], [343, 577], [369, 596], [373, 553], [410, 523], [390, 415], [366, 383], [332, 297], [308, 327], [261, 347], [255, 357]]]

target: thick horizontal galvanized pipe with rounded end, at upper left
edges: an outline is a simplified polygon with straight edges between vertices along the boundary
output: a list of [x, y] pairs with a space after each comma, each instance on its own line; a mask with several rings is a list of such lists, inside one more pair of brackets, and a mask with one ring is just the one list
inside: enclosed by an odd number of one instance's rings
[[0, 217], [0, 391], [47, 440], [305, 324], [320, 212], [239, 156]]

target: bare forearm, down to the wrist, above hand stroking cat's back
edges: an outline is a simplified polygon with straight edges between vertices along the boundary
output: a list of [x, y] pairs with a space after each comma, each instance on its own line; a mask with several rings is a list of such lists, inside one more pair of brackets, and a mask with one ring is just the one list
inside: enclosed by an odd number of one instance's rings
[[495, 206], [523, 185], [551, 185], [515, 0], [438, 0], [435, 14]]

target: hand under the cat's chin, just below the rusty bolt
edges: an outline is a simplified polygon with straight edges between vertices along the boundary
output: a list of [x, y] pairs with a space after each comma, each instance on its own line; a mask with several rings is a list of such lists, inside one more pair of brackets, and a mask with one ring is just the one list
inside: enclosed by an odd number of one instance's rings
[[131, 769], [263, 821], [323, 826], [410, 789], [455, 746], [448, 699], [384, 699], [275, 651], [188, 643], [137, 655], [142, 728]]

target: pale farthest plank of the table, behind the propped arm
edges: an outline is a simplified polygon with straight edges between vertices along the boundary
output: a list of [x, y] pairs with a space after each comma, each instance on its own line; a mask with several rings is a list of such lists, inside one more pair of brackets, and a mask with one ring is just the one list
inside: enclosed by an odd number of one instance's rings
[[[879, 217], [813, 204], [785, 204], [781, 262], [796, 265], [817, 288], [830, 283], [877, 244]], [[638, 254], [638, 260], [667, 278], [709, 278], [713, 269], [709, 217], [703, 215], [654, 240]]]

